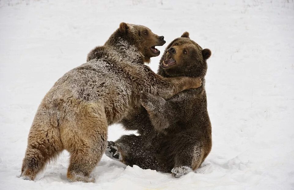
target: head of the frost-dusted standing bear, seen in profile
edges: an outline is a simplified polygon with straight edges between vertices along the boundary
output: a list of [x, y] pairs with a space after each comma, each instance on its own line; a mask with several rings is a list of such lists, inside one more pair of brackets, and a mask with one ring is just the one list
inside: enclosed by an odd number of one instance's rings
[[155, 46], [165, 44], [164, 36], [158, 36], [142, 25], [120, 23], [115, 34], [130, 44], [135, 45], [143, 55], [143, 60], [146, 63], [150, 62], [151, 57], [159, 56], [160, 51]]

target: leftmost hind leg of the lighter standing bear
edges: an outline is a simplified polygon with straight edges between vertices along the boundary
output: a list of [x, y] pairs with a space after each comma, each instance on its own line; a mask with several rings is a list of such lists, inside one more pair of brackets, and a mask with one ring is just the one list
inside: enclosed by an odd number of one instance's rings
[[34, 180], [46, 163], [63, 150], [56, 114], [41, 106], [34, 118], [28, 136], [28, 147], [21, 174], [25, 180]]

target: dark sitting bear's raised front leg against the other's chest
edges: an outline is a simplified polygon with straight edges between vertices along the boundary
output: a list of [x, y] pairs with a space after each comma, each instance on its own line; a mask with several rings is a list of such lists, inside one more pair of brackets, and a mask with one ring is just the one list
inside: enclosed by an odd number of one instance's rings
[[154, 128], [162, 133], [164, 129], [170, 126], [170, 112], [167, 113], [167, 101], [159, 96], [153, 96], [149, 93], [142, 92], [141, 104], [147, 110], [149, 118]]

